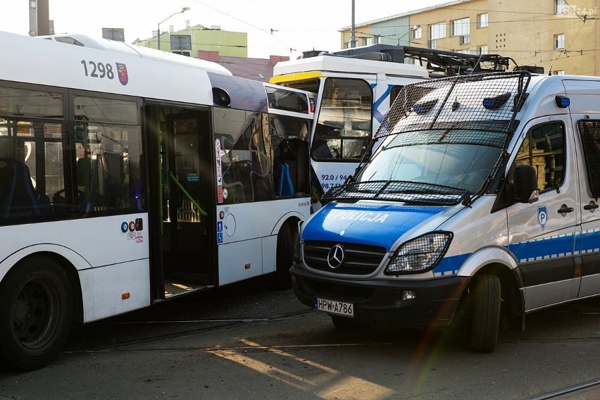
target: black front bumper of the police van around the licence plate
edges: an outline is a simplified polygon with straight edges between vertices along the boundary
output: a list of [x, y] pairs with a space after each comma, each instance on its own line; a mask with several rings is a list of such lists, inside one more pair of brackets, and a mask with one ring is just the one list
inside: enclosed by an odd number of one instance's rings
[[[353, 304], [361, 325], [441, 330], [450, 325], [469, 277], [432, 280], [342, 280], [290, 270], [292, 288], [302, 304], [314, 308], [315, 298]], [[407, 292], [411, 299], [403, 299]], [[409, 296], [410, 297], [410, 296]]]

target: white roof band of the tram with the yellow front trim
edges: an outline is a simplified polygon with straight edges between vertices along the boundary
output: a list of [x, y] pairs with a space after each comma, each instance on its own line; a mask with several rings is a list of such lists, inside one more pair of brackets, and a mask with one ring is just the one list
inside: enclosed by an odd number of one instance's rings
[[420, 65], [403, 63], [382, 63], [342, 56], [316, 56], [297, 60], [280, 61], [273, 67], [272, 83], [277, 83], [277, 75], [308, 71], [330, 71], [340, 73], [382, 73], [389, 75], [429, 77], [427, 69]]

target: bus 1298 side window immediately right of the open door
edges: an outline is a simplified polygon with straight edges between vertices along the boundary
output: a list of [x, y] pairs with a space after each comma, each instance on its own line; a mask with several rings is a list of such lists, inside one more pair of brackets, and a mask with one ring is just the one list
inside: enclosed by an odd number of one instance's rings
[[223, 196], [218, 202], [237, 204], [272, 200], [273, 150], [268, 116], [215, 108], [214, 121], [223, 179]]

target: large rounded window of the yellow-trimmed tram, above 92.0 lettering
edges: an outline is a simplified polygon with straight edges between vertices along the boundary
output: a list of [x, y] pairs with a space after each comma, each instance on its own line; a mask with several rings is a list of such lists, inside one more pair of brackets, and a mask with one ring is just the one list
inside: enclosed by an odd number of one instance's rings
[[372, 136], [373, 90], [364, 80], [327, 78], [311, 154], [317, 161], [360, 161]]

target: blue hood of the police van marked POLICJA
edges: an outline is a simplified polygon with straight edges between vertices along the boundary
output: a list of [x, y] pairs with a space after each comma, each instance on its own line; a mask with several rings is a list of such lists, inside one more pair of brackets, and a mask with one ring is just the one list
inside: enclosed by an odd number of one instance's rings
[[302, 240], [370, 244], [389, 251], [401, 235], [446, 208], [332, 202], [304, 224]]

